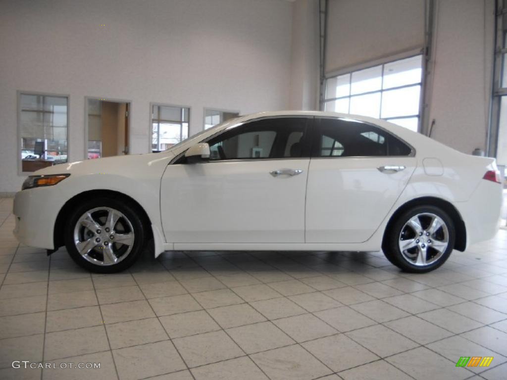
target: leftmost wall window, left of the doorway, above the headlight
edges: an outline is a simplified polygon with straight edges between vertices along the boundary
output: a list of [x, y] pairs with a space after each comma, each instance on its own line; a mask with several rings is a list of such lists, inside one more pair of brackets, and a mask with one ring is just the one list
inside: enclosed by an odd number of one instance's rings
[[18, 129], [21, 171], [67, 162], [68, 98], [21, 93]]

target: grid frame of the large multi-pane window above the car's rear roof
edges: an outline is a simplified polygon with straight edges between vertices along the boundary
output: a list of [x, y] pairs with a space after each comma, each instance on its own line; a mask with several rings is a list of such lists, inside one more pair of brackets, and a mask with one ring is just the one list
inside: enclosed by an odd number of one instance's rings
[[[402, 85], [402, 86], [391, 87], [388, 89], [383, 89], [385, 65], [390, 64], [390, 63], [394, 63], [397, 61], [402, 61], [405, 59], [417, 57], [417, 56], [421, 57], [421, 79], [419, 82], [412, 83], [409, 85]], [[380, 89], [352, 95], [351, 94], [352, 74], [354, 72], [366, 70], [366, 69], [373, 68], [376, 66], [381, 66], [382, 73], [381, 73]], [[333, 97], [333, 98], [326, 98], [325, 94], [327, 94], [327, 90], [328, 90], [328, 80], [333, 79], [333, 78], [338, 78], [338, 77], [341, 77], [342, 75], [347, 75], [347, 74], [349, 75], [349, 93], [348, 93], [348, 95]], [[417, 118], [417, 132], [421, 133], [422, 132], [422, 118], [423, 118], [423, 104], [424, 104], [424, 83], [425, 83], [424, 74], [425, 74], [425, 56], [422, 51], [417, 51], [417, 52], [410, 51], [410, 52], [407, 52], [405, 55], [390, 56], [390, 57], [387, 57], [386, 59], [370, 62], [368, 64], [361, 64], [361, 65], [357, 65], [357, 66], [347, 67], [343, 70], [334, 71], [334, 72], [326, 75], [326, 77], [325, 77], [324, 91], [323, 91], [324, 95], [323, 95], [323, 99], [320, 103], [320, 110], [324, 111], [325, 104], [328, 102], [336, 101], [339, 99], [349, 99], [348, 111], [350, 112], [350, 103], [351, 103], [351, 99], [353, 97], [379, 93], [380, 94], [380, 109], [379, 109], [379, 118], [378, 118], [379, 120], [384, 120], [384, 121], [390, 122], [391, 120], [394, 121], [396, 119]], [[382, 116], [382, 97], [383, 97], [384, 92], [391, 91], [391, 90], [400, 90], [400, 89], [410, 88], [410, 87], [415, 87], [415, 86], [420, 86], [419, 105], [418, 105], [417, 115], [406, 115], [406, 116], [397, 116], [397, 117], [390, 117], [390, 118], [381, 118], [381, 116]], [[329, 111], [329, 112], [336, 112], [336, 111]]]

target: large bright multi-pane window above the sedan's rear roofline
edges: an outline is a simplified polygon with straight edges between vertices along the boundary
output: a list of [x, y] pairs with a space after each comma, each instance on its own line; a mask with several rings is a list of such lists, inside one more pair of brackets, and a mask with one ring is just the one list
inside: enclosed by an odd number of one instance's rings
[[384, 119], [417, 132], [421, 73], [422, 56], [417, 55], [329, 78], [323, 108]]

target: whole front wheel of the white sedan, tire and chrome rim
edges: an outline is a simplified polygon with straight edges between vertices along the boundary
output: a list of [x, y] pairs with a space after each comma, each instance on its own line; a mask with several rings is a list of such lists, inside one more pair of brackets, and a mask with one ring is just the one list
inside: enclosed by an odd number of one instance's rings
[[81, 267], [97, 273], [120, 272], [141, 255], [144, 229], [136, 207], [98, 198], [77, 207], [65, 229], [65, 246]]

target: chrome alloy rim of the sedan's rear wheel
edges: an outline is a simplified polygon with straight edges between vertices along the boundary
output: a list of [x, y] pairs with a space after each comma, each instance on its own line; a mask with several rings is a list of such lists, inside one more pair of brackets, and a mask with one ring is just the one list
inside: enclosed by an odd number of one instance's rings
[[438, 215], [429, 212], [417, 214], [403, 226], [398, 243], [406, 261], [417, 267], [426, 267], [447, 250], [449, 229]]

